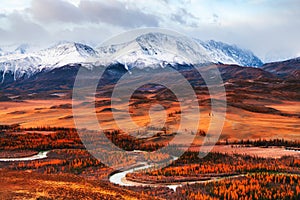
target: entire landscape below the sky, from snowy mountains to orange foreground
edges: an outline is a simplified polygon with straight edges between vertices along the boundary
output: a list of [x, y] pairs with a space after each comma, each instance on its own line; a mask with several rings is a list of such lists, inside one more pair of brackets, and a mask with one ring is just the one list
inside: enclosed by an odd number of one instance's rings
[[299, 58], [196, 44], [1, 54], [0, 199], [299, 199]]

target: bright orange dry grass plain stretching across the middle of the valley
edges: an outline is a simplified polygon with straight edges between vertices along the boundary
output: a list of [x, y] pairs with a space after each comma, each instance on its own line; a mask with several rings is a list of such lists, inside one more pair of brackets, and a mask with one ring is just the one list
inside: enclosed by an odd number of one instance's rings
[[[72, 117], [72, 109], [50, 109], [52, 106], [71, 103], [70, 100], [31, 100], [26, 102], [1, 102], [0, 103], [0, 123], [15, 124], [20, 123], [23, 127], [36, 126], [60, 126], [74, 127]], [[276, 108], [287, 113], [299, 113], [299, 102], [285, 101], [282, 104], [272, 104], [268, 107]], [[149, 108], [147, 104], [138, 104], [137, 107], [131, 107], [131, 118], [122, 117], [124, 113], [117, 111], [120, 120], [116, 123], [113, 120], [111, 111], [98, 112], [97, 117], [101, 127], [105, 129], [122, 128], [128, 132], [136, 129], [136, 127], [144, 128], [145, 126], [164, 127], [168, 126], [172, 131], [178, 129], [180, 122], [180, 114], [167, 117], [170, 113], [180, 110], [178, 104], [173, 103], [172, 106], [166, 104], [166, 111], [158, 110], [151, 112], [149, 117]], [[97, 107], [96, 111], [101, 111], [109, 106], [103, 105]], [[114, 109], [124, 110], [127, 108], [125, 103], [117, 104]], [[22, 112], [20, 112], [22, 111]], [[208, 130], [211, 120], [214, 116], [209, 116], [209, 106], [200, 107], [200, 123], [199, 129]], [[14, 114], [9, 114], [14, 113]], [[216, 114], [215, 114], [216, 115]], [[97, 129], [95, 124], [88, 124], [90, 114], [83, 113], [82, 122], [85, 122], [89, 129]], [[182, 124], [181, 130], [186, 130], [182, 134], [187, 137], [190, 130], [195, 129], [192, 122], [196, 116], [186, 116], [188, 122]], [[189, 122], [190, 121], [190, 122]], [[133, 122], [133, 123], [132, 123]], [[165, 123], [164, 123], [165, 122]], [[228, 107], [226, 121], [223, 127], [221, 139], [274, 139], [284, 138], [288, 140], [300, 139], [300, 118], [291, 116], [280, 116], [276, 114], [264, 114], [245, 111], [241, 108]], [[133, 128], [134, 127], [134, 128]], [[183, 141], [184, 142], [184, 141]]]

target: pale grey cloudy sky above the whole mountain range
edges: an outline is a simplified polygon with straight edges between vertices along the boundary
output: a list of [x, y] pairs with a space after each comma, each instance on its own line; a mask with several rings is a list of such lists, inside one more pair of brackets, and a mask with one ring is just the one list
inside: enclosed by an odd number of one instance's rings
[[96, 45], [127, 30], [161, 27], [270, 61], [300, 56], [299, 19], [299, 0], [1, 0], [0, 45]]

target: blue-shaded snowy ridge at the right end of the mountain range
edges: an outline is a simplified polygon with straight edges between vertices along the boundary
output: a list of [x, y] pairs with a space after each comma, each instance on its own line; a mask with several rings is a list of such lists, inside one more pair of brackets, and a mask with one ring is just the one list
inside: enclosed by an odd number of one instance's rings
[[249, 67], [260, 67], [263, 65], [263, 62], [251, 51], [241, 49], [236, 45], [228, 45], [214, 40], [199, 41], [199, 43], [207, 50], [213, 62]]

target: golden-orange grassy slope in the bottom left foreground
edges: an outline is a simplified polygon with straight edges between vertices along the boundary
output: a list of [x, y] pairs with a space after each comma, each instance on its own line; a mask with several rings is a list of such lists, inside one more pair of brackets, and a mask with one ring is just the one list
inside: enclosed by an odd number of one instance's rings
[[108, 183], [97, 184], [67, 174], [0, 170], [0, 181], [0, 199], [151, 199]]

